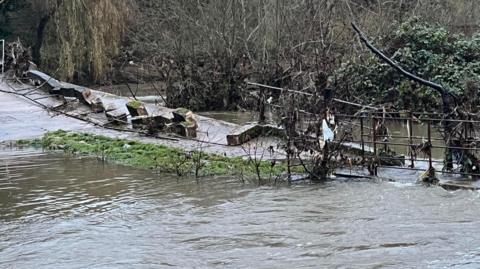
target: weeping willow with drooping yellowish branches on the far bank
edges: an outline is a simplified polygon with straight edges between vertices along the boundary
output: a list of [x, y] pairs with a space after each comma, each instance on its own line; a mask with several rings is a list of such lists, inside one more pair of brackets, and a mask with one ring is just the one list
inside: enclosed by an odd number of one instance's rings
[[120, 51], [129, 1], [33, 1], [42, 14], [34, 46], [42, 68], [63, 80], [104, 80]]

